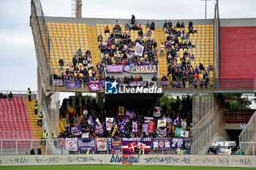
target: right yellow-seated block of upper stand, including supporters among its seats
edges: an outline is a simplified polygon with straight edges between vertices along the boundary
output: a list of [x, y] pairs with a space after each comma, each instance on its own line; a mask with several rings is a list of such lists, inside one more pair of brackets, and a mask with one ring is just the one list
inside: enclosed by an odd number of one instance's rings
[[[170, 22], [171, 23], [171, 22]], [[186, 73], [186, 69], [189, 69], [189, 71], [194, 70], [194, 72], [197, 72], [198, 69], [200, 69], [200, 63], [208, 71], [208, 81], [209, 86], [211, 86], [213, 82], [213, 72], [212, 66], [214, 66], [214, 28], [212, 24], [197, 24], [192, 25], [191, 29], [189, 28], [189, 25], [184, 25], [183, 28], [178, 27], [176, 28], [176, 23], [173, 23], [173, 25], [170, 24], [170, 26], [167, 26], [168, 23], [165, 23], [164, 31], [165, 31], [165, 48], [167, 49], [167, 43], [170, 42], [171, 47], [169, 49], [173, 48], [173, 50], [176, 51], [175, 55], [172, 55], [172, 59], [168, 59], [168, 53], [165, 50], [165, 56], [167, 58], [167, 63], [163, 63], [163, 67], [165, 70], [168, 70], [168, 74], [166, 72], [163, 72], [162, 74], [166, 75], [172, 75], [176, 68], [178, 68], [178, 74], [181, 72], [181, 76], [178, 76], [178, 80], [182, 80], [183, 75], [186, 77], [186, 81], [189, 80], [189, 74]], [[177, 39], [176, 39], [177, 38]], [[175, 40], [176, 39], [176, 40]], [[177, 42], [176, 42], [177, 41]], [[186, 42], [185, 42], [186, 41]], [[171, 43], [171, 42], [174, 42]], [[192, 44], [189, 47], [189, 42]], [[187, 44], [186, 44], [187, 43]], [[184, 46], [186, 44], [186, 47]], [[171, 52], [172, 50], [170, 50]], [[185, 54], [188, 53], [188, 54]], [[172, 53], [171, 53], [172, 54]], [[184, 56], [186, 55], [186, 56]], [[173, 61], [173, 58], [176, 57], [176, 62]], [[181, 69], [183, 66], [181, 66], [182, 60], [186, 62], [186, 65], [190, 63], [190, 68], [186, 66], [186, 69]], [[162, 58], [163, 59], [163, 58]], [[169, 63], [170, 62], [170, 63]], [[169, 68], [166, 68], [168, 67]], [[171, 71], [171, 68], [174, 68]], [[198, 68], [198, 69], [197, 69]], [[183, 71], [181, 71], [181, 70]], [[197, 70], [197, 71], [196, 71]], [[162, 75], [160, 74], [160, 75]], [[195, 74], [195, 73], [194, 73]], [[193, 75], [194, 75], [193, 74]], [[198, 88], [200, 81], [204, 81], [206, 77], [203, 75], [203, 70], [199, 70], [197, 72], [199, 75], [197, 83]], [[177, 75], [176, 75], [177, 76]], [[177, 80], [175, 78], [175, 80]], [[195, 79], [194, 79], [195, 80]], [[195, 81], [194, 81], [195, 83]], [[188, 86], [187, 82], [187, 87]], [[204, 85], [203, 85], [204, 86]]]

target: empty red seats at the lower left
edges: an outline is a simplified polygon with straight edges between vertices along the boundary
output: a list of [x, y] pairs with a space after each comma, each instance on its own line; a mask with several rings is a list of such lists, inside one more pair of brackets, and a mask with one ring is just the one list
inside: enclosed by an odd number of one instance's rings
[[[0, 139], [34, 139], [23, 97], [15, 96], [12, 101], [0, 98]], [[18, 147], [31, 142], [18, 142]], [[3, 147], [16, 147], [16, 142], [3, 142]]]

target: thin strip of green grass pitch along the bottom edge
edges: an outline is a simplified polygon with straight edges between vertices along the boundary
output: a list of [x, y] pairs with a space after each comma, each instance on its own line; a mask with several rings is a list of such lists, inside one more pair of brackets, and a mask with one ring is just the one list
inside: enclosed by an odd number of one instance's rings
[[65, 166], [0, 166], [1, 170], [84, 170], [84, 169], [93, 169], [93, 170], [121, 170], [121, 169], [132, 169], [132, 170], [240, 170], [248, 168], [225, 168], [225, 167], [200, 167], [200, 166], [136, 166], [136, 165], [65, 165]]

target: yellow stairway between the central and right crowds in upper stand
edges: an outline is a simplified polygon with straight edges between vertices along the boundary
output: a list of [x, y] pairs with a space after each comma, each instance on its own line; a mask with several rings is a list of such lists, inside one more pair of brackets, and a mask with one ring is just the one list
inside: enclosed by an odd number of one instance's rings
[[164, 57], [159, 57], [160, 55], [160, 45], [165, 43], [165, 32], [163, 28], [156, 28], [155, 29], [155, 39], [157, 42], [157, 56], [158, 56], [158, 65], [159, 65], [159, 78], [162, 77], [162, 74], [167, 76], [167, 60], [166, 60], [166, 49], [164, 51]]

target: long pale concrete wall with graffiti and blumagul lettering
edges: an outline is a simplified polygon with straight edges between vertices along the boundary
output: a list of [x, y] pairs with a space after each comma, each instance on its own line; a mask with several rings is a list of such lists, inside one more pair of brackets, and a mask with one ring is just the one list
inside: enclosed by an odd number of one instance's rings
[[[88, 161], [89, 159], [89, 161]], [[23, 155], [0, 156], [0, 166], [129, 164], [256, 168], [250, 155]]]

